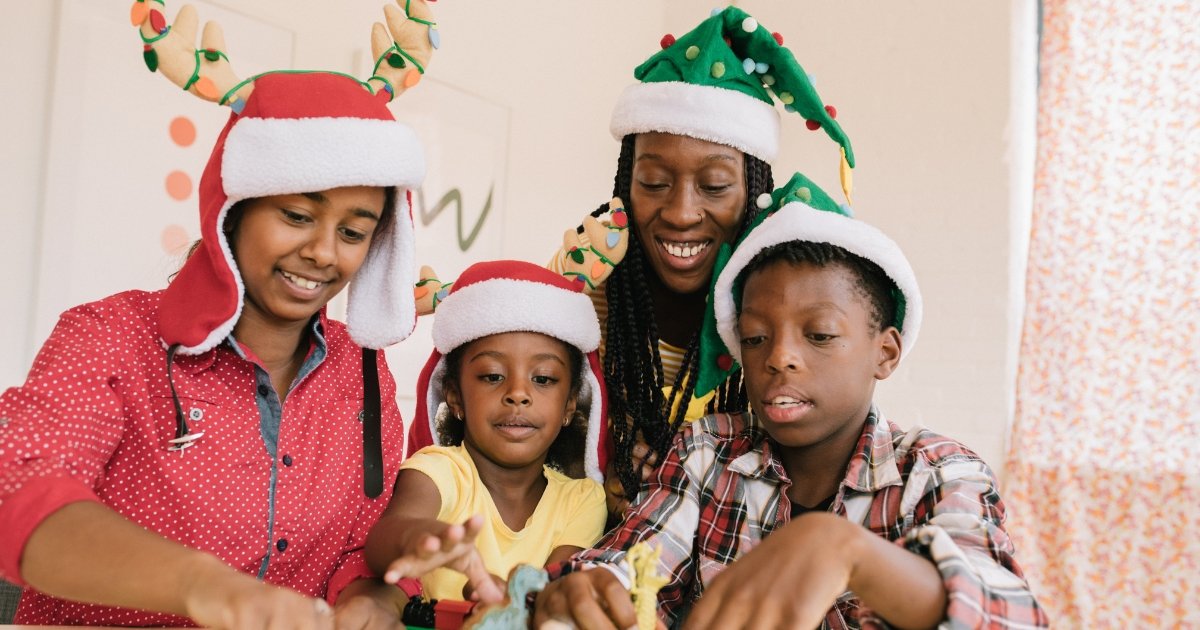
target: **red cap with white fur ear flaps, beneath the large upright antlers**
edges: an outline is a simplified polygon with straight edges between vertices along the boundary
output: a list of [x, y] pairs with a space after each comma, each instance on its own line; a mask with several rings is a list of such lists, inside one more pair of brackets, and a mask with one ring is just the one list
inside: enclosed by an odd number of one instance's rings
[[384, 348], [415, 325], [413, 220], [408, 191], [425, 176], [416, 134], [388, 109], [390, 94], [329, 72], [254, 79], [230, 115], [200, 178], [200, 246], [168, 286], [160, 335], [182, 354], [202, 354], [233, 330], [244, 287], [222, 229], [229, 208], [253, 197], [385, 186], [391, 223], [380, 226], [350, 284], [347, 328], [355, 343]]

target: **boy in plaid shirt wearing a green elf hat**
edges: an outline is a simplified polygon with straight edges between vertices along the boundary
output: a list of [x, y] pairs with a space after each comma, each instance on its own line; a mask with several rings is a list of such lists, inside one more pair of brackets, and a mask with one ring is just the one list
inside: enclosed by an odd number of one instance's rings
[[920, 326], [904, 254], [803, 175], [770, 203], [722, 252], [697, 383], [736, 360], [750, 410], [684, 426], [622, 524], [538, 596], [534, 625], [635, 625], [625, 552], [646, 541], [671, 626], [1046, 626], [988, 466], [872, 404]]

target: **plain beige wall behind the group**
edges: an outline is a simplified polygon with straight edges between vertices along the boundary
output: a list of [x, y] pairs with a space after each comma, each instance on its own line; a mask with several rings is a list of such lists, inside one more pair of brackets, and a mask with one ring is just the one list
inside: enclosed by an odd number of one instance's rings
[[[127, 11], [125, 0], [102, 1]], [[216, 4], [293, 30], [298, 67], [343, 71], [354, 70], [382, 5]], [[739, 5], [784, 34], [818, 91], [839, 108], [859, 162], [856, 211], [905, 247], [925, 293], [920, 343], [881, 385], [881, 404], [904, 425], [923, 422], [962, 439], [1000, 468], [1018, 312], [1013, 295], [1020, 295], [1013, 269], [1020, 270], [1022, 247], [1012, 236], [1022, 197], [1010, 192], [1018, 173], [1012, 156], [1020, 155], [1013, 148], [1020, 134], [1009, 131], [1010, 103], [1014, 85], [1024, 89], [1013, 79], [1020, 70], [1013, 7], [953, 0]], [[56, 6], [0, 8], [0, 70], [7, 78], [0, 265], [10, 276], [0, 307], [0, 343], [10, 350], [0, 359], [0, 386], [22, 380], [42, 341], [31, 338], [38, 326], [29, 314], [37, 278], [24, 271], [35, 268], [41, 230], [53, 229], [36, 217]], [[607, 121], [618, 91], [664, 32], [685, 31], [710, 8], [664, 0], [434, 5], [443, 48], [432, 74], [511, 110], [505, 256], [545, 259], [566, 227], [607, 198], [617, 152]], [[136, 43], [130, 54], [137, 54]], [[784, 128], [778, 179], [800, 169], [836, 190], [833, 143], [799, 119], [786, 120]]]

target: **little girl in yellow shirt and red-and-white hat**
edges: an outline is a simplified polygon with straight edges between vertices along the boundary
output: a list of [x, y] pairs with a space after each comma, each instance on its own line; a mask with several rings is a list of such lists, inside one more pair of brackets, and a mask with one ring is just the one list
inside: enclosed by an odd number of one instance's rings
[[367, 562], [433, 599], [496, 601], [515, 565], [566, 559], [604, 532], [600, 326], [563, 276], [499, 260], [462, 274], [433, 342], [414, 422], [438, 444], [401, 464]]

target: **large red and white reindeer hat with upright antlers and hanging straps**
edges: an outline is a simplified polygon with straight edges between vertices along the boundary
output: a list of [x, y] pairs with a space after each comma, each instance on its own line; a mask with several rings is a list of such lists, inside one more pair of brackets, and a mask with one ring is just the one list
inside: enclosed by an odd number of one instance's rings
[[[205, 24], [200, 47], [196, 47], [198, 20], [191, 6], [180, 8], [174, 24], [167, 24], [163, 17], [163, 0], [136, 0], [130, 13], [151, 71], [161, 72], [185, 91], [232, 109], [200, 178], [200, 245], [163, 294], [158, 332], [169, 348], [168, 370], [176, 352], [202, 354], [224, 341], [241, 314], [245, 289], [223, 229], [235, 203], [342, 186], [394, 191], [396, 211], [390, 224], [378, 228], [354, 277], [347, 318], [350, 337], [367, 349], [364, 432], [366, 451], [372, 451], [365, 452], [366, 491], [371, 496], [382, 488], [382, 468], [370, 472], [372, 466], [382, 467], [373, 350], [402, 341], [415, 325], [410, 287], [416, 275], [408, 191], [425, 176], [425, 157], [416, 136], [392, 118], [388, 103], [421, 79], [439, 41], [425, 0], [397, 2], [402, 10], [384, 7], [386, 26], [376, 23], [372, 28], [371, 47], [377, 61], [365, 82], [335, 72], [298, 71], [240, 80], [216, 23]], [[178, 404], [176, 425], [172, 440], [176, 449], [199, 436], [188, 431]]]

